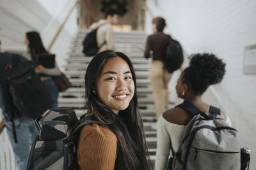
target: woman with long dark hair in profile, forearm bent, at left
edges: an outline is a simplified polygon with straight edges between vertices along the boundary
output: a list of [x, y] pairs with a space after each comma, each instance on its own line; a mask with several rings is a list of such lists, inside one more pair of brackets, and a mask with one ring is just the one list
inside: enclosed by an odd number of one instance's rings
[[[42, 39], [40, 38], [40, 34], [38, 32], [26, 32], [25, 43], [28, 46], [28, 51], [24, 54], [24, 56], [28, 60], [38, 60], [38, 55], [49, 53], [45, 50]], [[39, 64], [35, 69], [36, 73], [40, 75], [40, 78], [44, 82], [47, 89], [49, 89], [51, 92], [53, 104], [49, 109], [58, 108], [59, 90], [56, 83], [52, 79], [52, 76], [59, 76], [61, 72], [56, 63], [56, 59], [54, 59], [53, 65], [54, 66], [50, 68]]]

